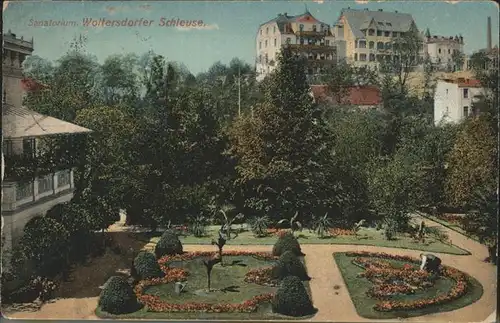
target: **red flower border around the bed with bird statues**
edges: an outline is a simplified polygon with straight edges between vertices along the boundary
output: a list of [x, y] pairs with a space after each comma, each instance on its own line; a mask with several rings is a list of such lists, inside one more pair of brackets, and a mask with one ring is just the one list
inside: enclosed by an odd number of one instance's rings
[[[204, 313], [230, 313], [230, 312], [254, 312], [260, 304], [272, 300], [274, 294], [266, 293], [252, 297], [238, 304], [212, 304], [203, 302], [190, 302], [184, 304], [169, 303], [162, 300], [159, 296], [145, 294], [145, 290], [149, 286], [168, 284], [172, 282], [185, 281], [189, 273], [183, 268], [170, 268], [169, 262], [172, 261], [188, 261], [197, 257], [213, 257], [216, 252], [186, 252], [179, 255], [164, 256], [158, 260], [160, 268], [165, 273], [163, 278], [154, 278], [140, 281], [134, 288], [137, 299], [145, 305], [149, 312], [204, 312]], [[247, 252], [247, 251], [230, 251], [224, 252], [223, 256], [253, 256], [262, 260], [274, 260], [274, 257], [269, 252]], [[250, 271], [252, 272], [252, 271]]]

